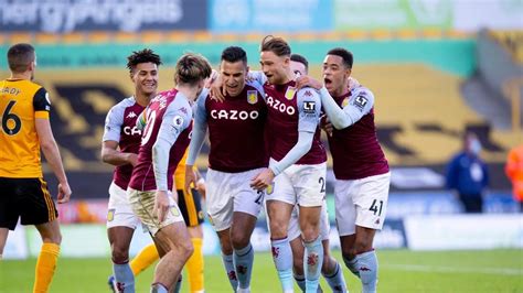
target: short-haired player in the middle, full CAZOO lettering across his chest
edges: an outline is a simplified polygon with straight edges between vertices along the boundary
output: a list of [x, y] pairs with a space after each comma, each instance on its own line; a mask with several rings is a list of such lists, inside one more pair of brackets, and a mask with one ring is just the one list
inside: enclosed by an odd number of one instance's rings
[[190, 184], [194, 182], [192, 167], [209, 128], [207, 214], [236, 292], [250, 290], [254, 262], [250, 235], [264, 200], [264, 193], [252, 188], [249, 180], [268, 163], [264, 143], [267, 108], [260, 86], [246, 84], [247, 72], [243, 48], [231, 46], [222, 52], [220, 78], [224, 100], [210, 97], [198, 100], [186, 166], [186, 184]]

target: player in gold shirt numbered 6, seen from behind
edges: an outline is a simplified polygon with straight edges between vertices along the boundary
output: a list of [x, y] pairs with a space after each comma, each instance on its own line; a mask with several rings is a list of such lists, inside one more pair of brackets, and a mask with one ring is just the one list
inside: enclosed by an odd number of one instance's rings
[[18, 219], [34, 225], [42, 237], [33, 292], [47, 292], [60, 253], [58, 213], [43, 180], [40, 149], [58, 180], [58, 204], [71, 187], [53, 137], [47, 91], [32, 82], [36, 54], [30, 44], [8, 51], [11, 77], [0, 82], [0, 258]]

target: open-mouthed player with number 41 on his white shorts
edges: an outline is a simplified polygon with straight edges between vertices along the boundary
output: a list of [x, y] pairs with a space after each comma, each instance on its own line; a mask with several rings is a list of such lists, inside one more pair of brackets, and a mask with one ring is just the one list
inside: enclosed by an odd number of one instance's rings
[[329, 137], [335, 216], [343, 260], [361, 279], [363, 292], [376, 292], [376, 230], [385, 220], [391, 173], [374, 123], [374, 95], [365, 87], [349, 89], [352, 53], [333, 48], [323, 61], [324, 87], [303, 78], [300, 85], [320, 89], [323, 109], [334, 129]]

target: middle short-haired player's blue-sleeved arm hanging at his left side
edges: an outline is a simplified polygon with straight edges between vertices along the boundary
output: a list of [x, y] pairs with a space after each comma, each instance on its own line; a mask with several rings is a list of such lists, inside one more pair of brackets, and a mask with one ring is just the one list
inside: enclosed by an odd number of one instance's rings
[[[205, 94], [205, 93], [203, 93]], [[207, 133], [207, 112], [205, 109], [205, 101], [210, 98], [209, 95], [200, 96], [196, 100], [194, 109], [194, 124], [192, 129], [191, 143], [189, 144], [189, 154], [185, 161], [185, 191], [190, 191], [191, 184], [196, 184], [196, 174], [193, 172], [194, 163], [196, 162], [198, 154], [202, 149]]]

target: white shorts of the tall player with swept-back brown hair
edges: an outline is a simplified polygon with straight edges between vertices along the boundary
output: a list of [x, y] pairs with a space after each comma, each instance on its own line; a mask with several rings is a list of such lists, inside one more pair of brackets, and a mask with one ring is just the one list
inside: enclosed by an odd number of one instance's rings
[[303, 207], [321, 206], [325, 199], [325, 174], [327, 163], [293, 164], [275, 177], [266, 189], [265, 198]]

